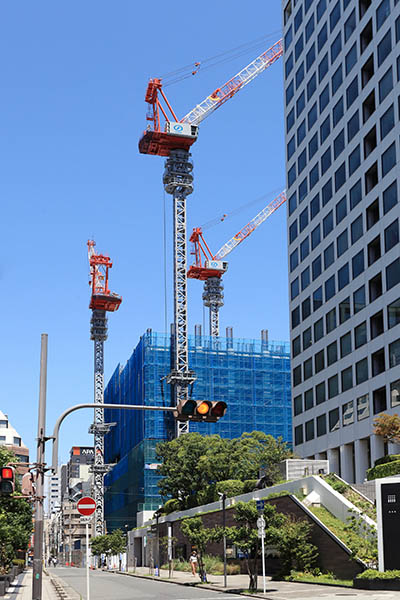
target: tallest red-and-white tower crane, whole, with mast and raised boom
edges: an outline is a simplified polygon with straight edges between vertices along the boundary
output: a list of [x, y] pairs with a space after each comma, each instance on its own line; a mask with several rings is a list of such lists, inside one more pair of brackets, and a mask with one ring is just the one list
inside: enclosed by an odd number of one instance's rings
[[[207, 96], [181, 120], [162, 89], [160, 78], [150, 79], [145, 101], [149, 105], [148, 126], [139, 141], [139, 152], [165, 156], [164, 189], [173, 198], [173, 260], [174, 260], [174, 332], [173, 368], [166, 377], [172, 387], [173, 402], [186, 402], [189, 386], [196, 376], [189, 369], [187, 342], [187, 279], [186, 279], [186, 198], [193, 192], [193, 164], [190, 148], [198, 136], [198, 125], [208, 115], [232, 98], [260, 73], [283, 55], [282, 40], [254, 59], [237, 75]], [[161, 126], [162, 117], [165, 120]], [[177, 421], [177, 436], [188, 431], [188, 421]]]

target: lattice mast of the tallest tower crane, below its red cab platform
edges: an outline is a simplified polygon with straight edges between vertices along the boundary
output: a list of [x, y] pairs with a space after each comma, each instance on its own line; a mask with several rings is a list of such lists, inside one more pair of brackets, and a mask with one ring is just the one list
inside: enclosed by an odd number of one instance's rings
[[[189, 397], [196, 381], [189, 369], [186, 279], [186, 197], [193, 192], [193, 164], [187, 150], [171, 150], [165, 161], [164, 189], [173, 198], [174, 213], [174, 346], [173, 368], [166, 381], [172, 386], [173, 404]], [[189, 422], [176, 421], [176, 436], [188, 433]]]

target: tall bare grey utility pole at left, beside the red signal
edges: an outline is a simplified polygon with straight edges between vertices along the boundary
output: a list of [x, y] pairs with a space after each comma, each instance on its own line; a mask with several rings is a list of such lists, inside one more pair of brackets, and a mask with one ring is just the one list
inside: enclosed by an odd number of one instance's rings
[[42, 600], [43, 569], [43, 502], [44, 502], [44, 452], [46, 443], [46, 391], [47, 391], [47, 333], [42, 333], [40, 351], [40, 383], [38, 437], [36, 458], [35, 529], [33, 549], [32, 600]]

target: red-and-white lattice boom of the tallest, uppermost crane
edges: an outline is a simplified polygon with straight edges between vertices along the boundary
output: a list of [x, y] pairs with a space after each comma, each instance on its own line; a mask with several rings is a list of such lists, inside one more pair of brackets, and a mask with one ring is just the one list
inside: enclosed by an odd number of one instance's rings
[[207, 96], [203, 102], [195, 106], [183, 119], [181, 123], [189, 125], [198, 125], [208, 117], [214, 110], [217, 110], [229, 98], [232, 98], [240, 89], [250, 83], [257, 75], [265, 71], [283, 54], [282, 40], [276, 42], [271, 48], [260, 54], [247, 67], [244, 67], [237, 75], [229, 79], [223, 86], [216, 89], [210, 96]]

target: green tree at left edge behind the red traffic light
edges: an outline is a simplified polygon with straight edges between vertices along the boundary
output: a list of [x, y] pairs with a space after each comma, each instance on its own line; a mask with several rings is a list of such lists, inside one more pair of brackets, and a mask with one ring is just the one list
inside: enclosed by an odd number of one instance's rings
[[[15, 455], [0, 446], [0, 467], [18, 462]], [[21, 493], [16, 481], [16, 493]], [[0, 572], [5, 573], [19, 550], [28, 548], [32, 532], [32, 508], [24, 498], [0, 496]]]

